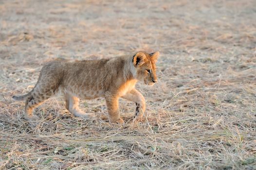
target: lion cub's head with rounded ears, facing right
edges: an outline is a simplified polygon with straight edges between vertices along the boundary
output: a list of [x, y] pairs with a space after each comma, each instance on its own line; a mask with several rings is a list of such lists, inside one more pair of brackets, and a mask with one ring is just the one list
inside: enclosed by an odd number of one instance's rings
[[154, 85], [157, 82], [156, 61], [158, 57], [159, 51], [150, 54], [137, 52], [132, 60], [135, 67], [134, 77], [146, 85]]

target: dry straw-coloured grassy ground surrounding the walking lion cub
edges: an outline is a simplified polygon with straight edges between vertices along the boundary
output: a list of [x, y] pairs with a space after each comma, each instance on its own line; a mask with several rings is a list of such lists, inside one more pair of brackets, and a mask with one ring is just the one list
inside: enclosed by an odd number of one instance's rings
[[[159, 83], [137, 85], [147, 121], [104, 99], [73, 117], [56, 96], [23, 119], [43, 64], [160, 51]], [[0, 169], [256, 169], [255, 0], [0, 0]]]

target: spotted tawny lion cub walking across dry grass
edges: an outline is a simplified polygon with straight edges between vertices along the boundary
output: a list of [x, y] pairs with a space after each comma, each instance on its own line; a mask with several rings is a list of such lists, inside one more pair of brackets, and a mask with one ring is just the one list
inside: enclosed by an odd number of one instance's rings
[[14, 100], [25, 100], [25, 119], [38, 119], [33, 115], [35, 107], [52, 97], [59, 90], [64, 93], [66, 108], [74, 116], [93, 118], [93, 113], [84, 113], [79, 108], [79, 98], [106, 99], [111, 123], [124, 124], [119, 116], [118, 99], [124, 98], [136, 103], [137, 118], [146, 109], [143, 95], [134, 86], [137, 81], [146, 85], [157, 82], [156, 61], [159, 52], [137, 52], [134, 55], [100, 60], [52, 61], [40, 72], [37, 84], [23, 96]]

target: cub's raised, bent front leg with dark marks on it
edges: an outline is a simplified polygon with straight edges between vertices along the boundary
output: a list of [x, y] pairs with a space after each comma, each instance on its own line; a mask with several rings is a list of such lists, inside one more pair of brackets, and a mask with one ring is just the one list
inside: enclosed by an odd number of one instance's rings
[[135, 102], [136, 111], [135, 111], [134, 117], [136, 117], [136, 119], [141, 119], [145, 114], [145, 110], [146, 110], [146, 102], [143, 95], [138, 90], [133, 88], [126, 95], [122, 96], [122, 98], [131, 102]]

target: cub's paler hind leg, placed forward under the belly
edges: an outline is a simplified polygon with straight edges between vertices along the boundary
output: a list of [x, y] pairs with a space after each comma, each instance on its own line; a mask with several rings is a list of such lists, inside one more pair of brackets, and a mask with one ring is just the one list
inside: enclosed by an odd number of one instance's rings
[[65, 94], [66, 108], [76, 117], [94, 118], [94, 113], [85, 113], [79, 108], [79, 99], [70, 94]]

